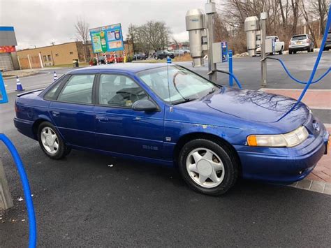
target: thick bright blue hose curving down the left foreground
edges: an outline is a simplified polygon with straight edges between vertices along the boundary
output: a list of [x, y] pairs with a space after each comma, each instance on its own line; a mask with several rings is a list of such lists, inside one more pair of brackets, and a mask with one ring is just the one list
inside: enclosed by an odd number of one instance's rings
[[7, 138], [7, 136], [5, 136], [3, 133], [0, 133], [0, 140], [3, 141], [3, 143], [9, 149], [11, 156], [13, 156], [13, 159], [17, 166], [18, 173], [20, 174], [21, 177], [21, 182], [23, 185], [23, 192], [24, 192], [25, 202], [27, 204], [27, 212], [29, 217], [29, 248], [34, 248], [36, 247], [37, 244], [36, 215], [34, 214], [34, 202], [31, 197], [31, 190], [29, 186], [29, 181], [27, 179], [27, 173], [25, 173], [24, 166], [20, 158], [20, 155], [17, 152], [17, 149], [15, 148], [13, 143], [11, 143], [9, 138]]

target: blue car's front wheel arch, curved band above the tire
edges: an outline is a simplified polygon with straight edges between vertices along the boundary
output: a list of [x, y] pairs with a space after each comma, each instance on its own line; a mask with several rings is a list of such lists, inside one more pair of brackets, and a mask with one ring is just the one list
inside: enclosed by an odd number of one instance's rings
[[238, 168], [239, 173], [241, 174], [242, 164], [241, 164], [240, 157], [239, 157], [235, 147], [233, 147], [233, 145], [231, 145], [224, 138], [216, 136], [215, 134], [212, 134], [212, 133], [194, 132], [194, 133], [186, 133], [186, 134], [184, 134], [184, 136], [181, 136], [174, 147], [173, 161], [175, 162], [175, 166], [177, 166], [179, 153], [182, 150], [182, 147], [184, 147], [184, 145], [186, 143], [188, 143], [189, 141], [196, 140], [199, 138], [205, 138], [206, 140], [212, 140], [214, 143], [216, 143], [218, 145], [222, 145], [222, 147], [227, 149], [228, 152], [232, 152], [235, 156], [235, 159], [237, 160], [237, 164], [239, 166], [239, 168]]

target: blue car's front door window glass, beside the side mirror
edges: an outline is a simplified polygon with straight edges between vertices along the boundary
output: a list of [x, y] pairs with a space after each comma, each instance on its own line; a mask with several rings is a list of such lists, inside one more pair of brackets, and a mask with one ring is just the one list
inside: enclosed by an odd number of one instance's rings
[[124, 75], [103, 74], [100, 77], [99, 103], [131, 108], [135, 101], [147, 99], [145, 91]]

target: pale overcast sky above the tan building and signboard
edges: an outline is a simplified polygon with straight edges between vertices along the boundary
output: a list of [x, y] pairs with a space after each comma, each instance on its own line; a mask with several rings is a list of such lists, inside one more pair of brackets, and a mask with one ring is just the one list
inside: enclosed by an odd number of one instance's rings
[[173, 36], [186, 41], [185, 14], [205, 9], [206, 0], [0, 0], [0, 26], [13, 26], [17, 49], [75, 41], [75, 21], [84, 17], [89, 27], [163, 21]]

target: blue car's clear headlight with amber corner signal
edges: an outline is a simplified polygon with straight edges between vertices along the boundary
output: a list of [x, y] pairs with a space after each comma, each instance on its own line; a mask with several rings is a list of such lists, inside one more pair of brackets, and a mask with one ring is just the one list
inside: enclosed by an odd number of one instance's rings
[[300, 126], [290, 133], [248, 136], [247, 144], [252, 147], [295, 147], [306, 140], [308, 136], [307, 129]]

